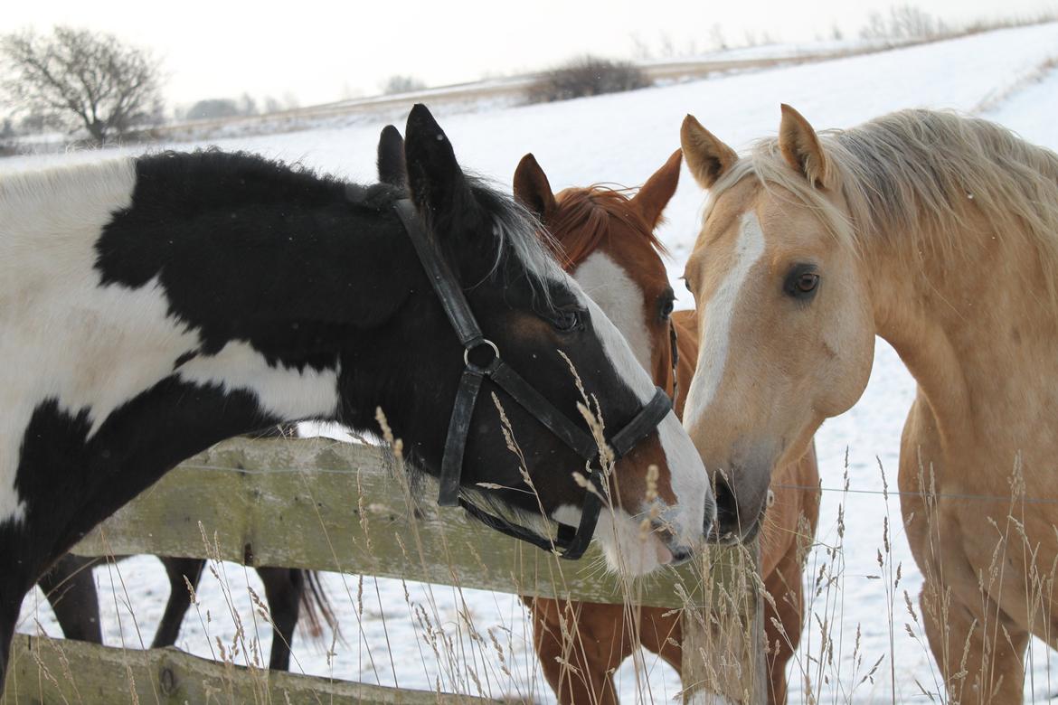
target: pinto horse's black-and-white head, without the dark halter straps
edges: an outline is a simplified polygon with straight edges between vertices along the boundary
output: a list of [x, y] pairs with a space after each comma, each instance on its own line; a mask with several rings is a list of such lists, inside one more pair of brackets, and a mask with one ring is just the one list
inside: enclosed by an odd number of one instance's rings
[[[513, 201], [463, 174], [448, 137], [424, 108], [412, 111], [406, 135], [407, 192], [485, 337], [566, 422], [590, 432], [578, 411], [586, 405], [599, 413], [610, 438], [655, 392], [624, 338], [558, 267], [533, 221]], [[380, 150], [380, 167], [387, 159]], [[418, 415], [432, 420], [432, 430], [416, 435], [433, 439], [419, 454], [425, 469], [436, 474], [464, 358], [438, 297], [427, 292], [428, 297], [415, 297], [413, 305], [422, 311], [409, 311], [408, 320], [428, 340], [428, 360], [411, 374], [430, 376], [415, 401]], [[489, 366], [492, 353], [479, 346], [470, 361]], [[523, 525], [543, 509], [576, 526], [586, 490], [574, 474], [587, 475], [585, 465], [503, 384], [485, 378], [469, 426], [464, 499], [505, 516], [513, 509]], [[652, 465], [658, 468], [656, 478]], [[705, 470], [671, 411], [616, 463], [608, 490], [613, 506], [603, 509], [596, 537], [615, 570], [644, 573], [686, 558], [711, 527], [714, 508]]]

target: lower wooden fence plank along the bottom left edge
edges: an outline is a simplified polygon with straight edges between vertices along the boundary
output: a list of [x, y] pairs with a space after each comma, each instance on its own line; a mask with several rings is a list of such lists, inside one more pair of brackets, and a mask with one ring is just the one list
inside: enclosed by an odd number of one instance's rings
[[16, 634], [0, 705], [498, 703], [472, 695], [245, 668], [177, 649], [113, 647]]

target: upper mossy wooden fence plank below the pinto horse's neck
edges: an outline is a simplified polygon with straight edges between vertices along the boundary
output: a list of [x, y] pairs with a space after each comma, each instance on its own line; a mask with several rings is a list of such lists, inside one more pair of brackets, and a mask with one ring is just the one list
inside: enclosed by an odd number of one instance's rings
[[[597, 549], [577, 562], [559, 560], [461, 509], [437, 507], [433, 497], [416, 504], [403, 477], [384, 465], [371, 446], [233, 439], [182, 463], [75, 553], [212, 557], [598, 602], [625, 598], [624, 586], [591, 570]], [[729, 579], [729, 554], [712, 552], [713, 582]], [[652, 577], [649, 591], [634, 586], [632, 596], [660, 607], [683, 607], [685, 595], [700, 602], [699, 575], [695, 564], [667, 571]]]

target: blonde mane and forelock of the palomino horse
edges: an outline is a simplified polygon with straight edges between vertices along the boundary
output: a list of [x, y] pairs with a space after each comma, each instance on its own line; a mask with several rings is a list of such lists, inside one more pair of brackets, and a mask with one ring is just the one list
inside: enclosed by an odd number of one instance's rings
[[[778, 138], [766, 138], [714, 185], [706, 216], [724, 191], [753, 175], [764, 188], [794, 193], [854, 251], [879, 237], [911, 238], [915, 257], [955, 255], [973, 237], [1028, 244], [1058, 302], [1058, 154], [995, 123], [930, 110], [819, 137], [827, 160], [822, 188], [787, 165]], [[840, 192], [847, 215], [827, 191]]]

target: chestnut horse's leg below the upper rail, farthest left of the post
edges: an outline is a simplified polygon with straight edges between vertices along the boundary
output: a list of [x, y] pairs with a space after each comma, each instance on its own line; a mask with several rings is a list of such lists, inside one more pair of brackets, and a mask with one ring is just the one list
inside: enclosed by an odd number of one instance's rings
[[541, 597], [522, 599], [532, 614], [533, 645], [544, 675], [559, 702], [617, 705], [613, 674], [632, 653], [633, 643], [624, 607]]

